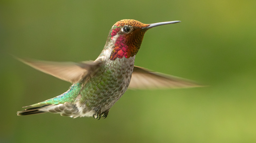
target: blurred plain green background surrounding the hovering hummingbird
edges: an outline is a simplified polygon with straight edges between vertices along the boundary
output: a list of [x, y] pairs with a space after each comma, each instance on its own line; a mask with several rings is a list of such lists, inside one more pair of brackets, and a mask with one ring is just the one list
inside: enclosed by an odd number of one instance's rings
[[[256, 1], [0, 1], [0, 142], [256, 142]], [[71, 84], [9, 54], [94, 60], [121, 19], [150, 24], [135, 65], [209, 87], [129, 90], [108, 118], [17, 116]]]

